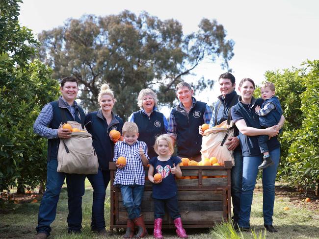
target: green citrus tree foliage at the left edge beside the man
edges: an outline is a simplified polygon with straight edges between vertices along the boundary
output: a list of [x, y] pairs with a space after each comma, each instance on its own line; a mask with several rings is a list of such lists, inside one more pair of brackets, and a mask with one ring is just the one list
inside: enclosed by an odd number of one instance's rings
[[34, 54], [30, 30], [18, 24], [18, 0], [0, 1], [0, 191], [46, 178], [46, 141], [33, 134], [40, 107], [56, 98], [52, 71]]

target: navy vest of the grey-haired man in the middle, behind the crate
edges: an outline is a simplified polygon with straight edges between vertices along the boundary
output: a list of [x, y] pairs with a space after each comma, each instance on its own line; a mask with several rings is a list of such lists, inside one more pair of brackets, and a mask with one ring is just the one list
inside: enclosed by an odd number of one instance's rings
[[173, 108], [177, 125], [177, 154], [187, 157], [195, 157], [200, 154], [202, 148], [202, 136], [198, 134], [198, 126], [204, 122], [206, 103], [197, 101], [193, 108], [187, 112], [177, 106]]

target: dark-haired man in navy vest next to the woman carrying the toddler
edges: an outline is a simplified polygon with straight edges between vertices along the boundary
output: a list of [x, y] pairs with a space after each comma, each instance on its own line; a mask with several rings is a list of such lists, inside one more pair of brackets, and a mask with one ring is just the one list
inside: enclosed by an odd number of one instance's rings
[[[238, 103], [238, 97], [235, 87], [236, 79], [230, 72], [221, 74], [218, 78], [219, 90], [221, 95], [218, 96], [218, 100], [214, 103], [213, 117], [210, 122], [210, 128], [220, 124], [228, 118], [228, 112], [230, 108]], [[201, 127], [199, 133], [203, 135]], [[228, 139], [225, 144], [228, 145], [228, 150], [234, 150], [235, 166], [231, 170], [231, 194], [233, 202], [233, 223], [237, 224], [239, 220], [240, 212], [240, 194], [241, 194], [241, 182], [242, 182], [242, 153], [239, 145], [239, 131], [235, 127], [234, 137]]]

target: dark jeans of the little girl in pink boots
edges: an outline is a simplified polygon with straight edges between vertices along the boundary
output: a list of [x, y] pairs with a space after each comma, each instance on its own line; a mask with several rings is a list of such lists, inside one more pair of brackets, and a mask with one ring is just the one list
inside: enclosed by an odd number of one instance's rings
[[167, 199], [156, 199], [154, 200], [154, 218], [163, 218], [165, 215], [165, 205], [168, 209], [169, 215], [175, 220], [181, 217], [180, 210], [178, 209], [178, 198], [173, 196]]

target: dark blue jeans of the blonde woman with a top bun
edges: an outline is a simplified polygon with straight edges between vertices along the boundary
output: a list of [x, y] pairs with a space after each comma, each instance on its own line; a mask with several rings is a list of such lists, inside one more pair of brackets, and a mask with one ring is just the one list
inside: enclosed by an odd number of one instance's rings
[[110, 172], [109, 170], [99, 169], [97, 174], [89, 174], [86, 177], [93, 187], [91, 229], [99, 232], [105, 229], [104, 202], [106, 188], [110, 180]]

